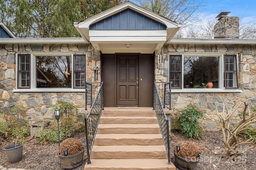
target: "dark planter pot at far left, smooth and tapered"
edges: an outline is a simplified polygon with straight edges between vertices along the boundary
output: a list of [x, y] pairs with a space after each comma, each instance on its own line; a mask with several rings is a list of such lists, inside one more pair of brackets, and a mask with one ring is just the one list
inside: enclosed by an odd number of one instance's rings
[[20, 162], [22, 160], [23, 143], [9, 145], [4, 148], [8, 160], [11, 164]]

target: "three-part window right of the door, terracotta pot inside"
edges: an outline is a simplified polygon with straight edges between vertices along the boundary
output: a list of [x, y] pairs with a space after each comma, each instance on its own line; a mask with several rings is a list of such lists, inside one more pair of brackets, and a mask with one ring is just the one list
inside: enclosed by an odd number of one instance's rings
[[236, 55], [170, 55], [169, 79], [174, 89], [237, 89]]

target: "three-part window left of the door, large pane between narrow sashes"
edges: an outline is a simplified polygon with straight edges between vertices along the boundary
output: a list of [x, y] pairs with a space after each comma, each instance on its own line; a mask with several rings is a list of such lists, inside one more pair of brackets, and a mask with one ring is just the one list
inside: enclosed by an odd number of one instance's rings
[[86, 55], [18, 54], [17, 88], [84, 88]]

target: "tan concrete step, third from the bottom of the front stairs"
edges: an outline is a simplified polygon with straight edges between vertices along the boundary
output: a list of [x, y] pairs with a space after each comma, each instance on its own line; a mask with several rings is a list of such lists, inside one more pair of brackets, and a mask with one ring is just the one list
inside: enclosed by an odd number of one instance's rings
[[164, 145], [161, 134], [96, 134], [93, 145]]

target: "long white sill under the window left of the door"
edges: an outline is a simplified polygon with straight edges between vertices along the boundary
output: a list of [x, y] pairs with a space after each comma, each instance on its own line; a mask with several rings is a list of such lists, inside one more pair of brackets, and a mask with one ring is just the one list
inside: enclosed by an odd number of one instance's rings
[[34, 88], [34, 89], [14, 89], [12, 92], [85, 92], [85, 89], [72, 88]]

